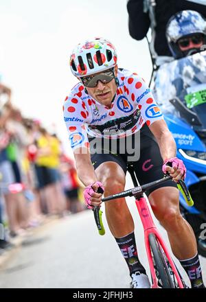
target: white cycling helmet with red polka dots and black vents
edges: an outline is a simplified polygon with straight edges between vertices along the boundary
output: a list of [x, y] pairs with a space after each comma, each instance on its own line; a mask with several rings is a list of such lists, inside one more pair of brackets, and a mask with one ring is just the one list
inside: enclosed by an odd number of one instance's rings
[[70, 57], [71, 72], [79, 78], [111, 69], [116, 64], [115, 47], [104, 38], [94, 38], [78, 44]]

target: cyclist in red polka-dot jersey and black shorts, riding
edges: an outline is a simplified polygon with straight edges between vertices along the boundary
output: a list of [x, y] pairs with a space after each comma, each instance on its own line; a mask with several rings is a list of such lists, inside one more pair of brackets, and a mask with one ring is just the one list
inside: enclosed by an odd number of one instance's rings
[[[80, 82], [66, 97], [64, 117], [78, 176], [86, 186], [87, 207], [101, 205], [100, 190], [104, 196], [124, 190], [128, 161], [135, 161], [141, 185], [169, 172], [174, 181], [151, 189], [150, 205], [168, 231], [172, 251], [189, 275], [192, 287], [203, 287], [194, 233], [179, 211], [176, 182], [185, 176], [185, 165], [175, 157], [174, 139], [150, 89], [137, 73], [118, 69], [115, 47], [104, 38], [80, 43], [71, 54], [70, 66]], [[114, 143], [117, 148], [113, 148]], [[122, 151], [123, 147], [126, 150]], [[139, 159], [130, 159], [131, 148], [135, 152], [140, 148]], [[108, 202], [105, 210], [108, 227], [128, 265], [131, 286], [150, 288], [137, 255], [134, 222], [126, 200]]]

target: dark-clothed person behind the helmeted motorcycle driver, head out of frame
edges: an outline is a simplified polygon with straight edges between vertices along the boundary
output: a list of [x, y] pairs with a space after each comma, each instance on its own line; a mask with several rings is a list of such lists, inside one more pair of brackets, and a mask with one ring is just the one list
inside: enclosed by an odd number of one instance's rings
[[153, 62], [161, 65], [163, 56], [171, 57], [165, 36], [165, 27], [171, 16], [181, 10], [195, 10], [206, 16], [206, 3], [201, 0], [128, 0], [129, 33], [142, 40], [152, 29], [150, 52]]

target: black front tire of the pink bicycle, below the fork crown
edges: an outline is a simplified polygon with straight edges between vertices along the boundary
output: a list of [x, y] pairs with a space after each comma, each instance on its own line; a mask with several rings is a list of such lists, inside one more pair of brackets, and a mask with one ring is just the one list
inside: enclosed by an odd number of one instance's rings
[[157, 242], [157, 238], [155, 234], [149, 235], [150, 248], [152, 250], [152, 255], [155, 260], [155, 265], [157, 266], [157, 270], [159, 272], [159, 279], [161, 280], [163, 288], [174, 288], [174, 283], [170, 277], [170, 270], [168, 265], [165, 263], [163, 254], [159, 247], [159, 243]]

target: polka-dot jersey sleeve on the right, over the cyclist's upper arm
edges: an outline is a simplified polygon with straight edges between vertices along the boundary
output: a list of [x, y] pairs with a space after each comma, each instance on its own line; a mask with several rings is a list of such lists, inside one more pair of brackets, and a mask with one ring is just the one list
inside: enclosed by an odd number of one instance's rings
[[141, 111], [141, 117], [146, 124], [150, 126], [154, 121], [163, 119], [163, 114], [144, 80], [133, 74], [126, 81], [130, 98], [137, 104], [137, 108]]

